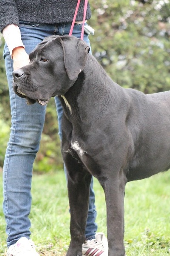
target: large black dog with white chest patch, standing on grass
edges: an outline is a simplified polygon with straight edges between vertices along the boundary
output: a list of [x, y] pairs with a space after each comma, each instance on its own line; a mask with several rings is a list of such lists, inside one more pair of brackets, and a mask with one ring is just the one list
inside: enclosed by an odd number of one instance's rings
[[82, 255], [91, 176], [105, 192], [109, 256], [124, 256], [127, 181], [170, 168], [170, 91], [144, 95], [114, 83], [84, 41], [48, 37], [14, 71], [14, 91], [29, 104], [55, 95], [63, 107], [62, 156], [68, 171], [71, 243]]

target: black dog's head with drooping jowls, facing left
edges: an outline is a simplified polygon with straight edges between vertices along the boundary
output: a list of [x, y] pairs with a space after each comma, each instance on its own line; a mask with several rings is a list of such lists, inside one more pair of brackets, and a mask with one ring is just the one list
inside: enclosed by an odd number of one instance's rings
[[30, 63], [13, 72], [14, 92], [46, 105], [64, 95], [85, 67], [89, 46], [74, 36], [49, 36], [30, 53]]

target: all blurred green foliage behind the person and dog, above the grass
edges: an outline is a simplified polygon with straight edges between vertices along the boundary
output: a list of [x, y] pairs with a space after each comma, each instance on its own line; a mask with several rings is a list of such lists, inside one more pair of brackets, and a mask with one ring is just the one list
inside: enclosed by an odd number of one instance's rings
[[[144, 93], [170, 90], [170, 1], [90, 0], [90, 35], [93, 55], [113, 81]], [[0, 37], [0, 115], [4, 127], [10, 125], [8, 86]], [[8, 129], [6, 130], [8, 133]], [[54, 100], [48, 103], [40, 151], [34, 171], [48, 172], [62, 166], [57, 114]], [[0, 166], [8, 136], [0, 134]], [[2, 145], [1, 143], [1, 145]]]

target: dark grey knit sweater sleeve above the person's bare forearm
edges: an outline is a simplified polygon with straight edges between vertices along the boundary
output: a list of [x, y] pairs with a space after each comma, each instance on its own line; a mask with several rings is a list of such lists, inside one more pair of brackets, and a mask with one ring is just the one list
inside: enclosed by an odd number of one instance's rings
[[19, 25], [17, 4], [15, 0], [0, 0], [0, 32], [8, 24]]

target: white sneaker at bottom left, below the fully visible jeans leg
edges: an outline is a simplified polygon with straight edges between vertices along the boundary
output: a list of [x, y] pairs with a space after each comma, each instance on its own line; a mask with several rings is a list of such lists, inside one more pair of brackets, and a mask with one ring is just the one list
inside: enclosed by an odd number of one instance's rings
[[15, 244], [11, 245], [6, 256], [40, 256], [35, 250], [35, 244], [31, 239], [21, 237]]

